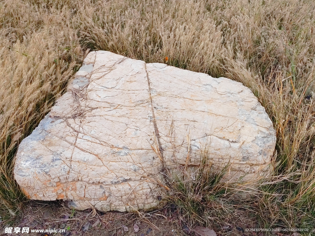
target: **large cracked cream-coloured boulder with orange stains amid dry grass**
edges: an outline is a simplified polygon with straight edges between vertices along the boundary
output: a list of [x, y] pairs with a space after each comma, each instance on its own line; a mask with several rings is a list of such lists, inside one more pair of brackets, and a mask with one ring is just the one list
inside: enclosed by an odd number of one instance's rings
[[20, 143], [14, 176], [30, 199], [149, 210], [163, 191], [157, 153], [174, 169], [206, 149], [215, 168], [229, 164], [226, 178], [244, 180], [270, 173], [275, 143], [265, 109], [241, 83], [97, 51]]

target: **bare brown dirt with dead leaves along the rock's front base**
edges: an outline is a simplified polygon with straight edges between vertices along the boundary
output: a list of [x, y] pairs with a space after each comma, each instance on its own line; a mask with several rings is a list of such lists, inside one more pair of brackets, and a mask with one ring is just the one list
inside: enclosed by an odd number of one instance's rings
[[[2, 225], [1, 225], [2, 224]], [[179, 236], [196, 235], [181, 218], [174, 205], [151, 212], [122, 213], [101, 212], [97, 210], [76, 211], [66, 207], [62, 201], [39, 203], [30, 201], [20, 219], [10, 227], [12, 233], [5, 233], [8, 225], [0, 223], [0, 235], [30, 236]], [[29, 233], [14, 233], [14, 228], [29, 228]], [[213, 228], [218, 236], [251, 236], [240, 228], [248, 224], [236, 223]], [[49, 231], [46, 231], [49, 230]], [[61, 230], [61, 231], [60, 231]], [[32, 232], [31, 232], [32, 231]], [[37, 232], [36, 232], [37, 231]], [[60, 232], [59, 232], [60, 231]]]

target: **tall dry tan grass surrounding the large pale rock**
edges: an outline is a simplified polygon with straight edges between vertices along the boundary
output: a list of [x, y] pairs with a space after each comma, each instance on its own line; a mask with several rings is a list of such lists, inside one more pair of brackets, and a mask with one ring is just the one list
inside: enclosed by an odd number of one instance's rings
[[314, 17], [307, 0], [0, 1], [0, 214], [22, 199], [17, 145], [91, 49], [243, 82], [273, 121], [282, 176], [251, 205], [261, 225], [314, 228]]

